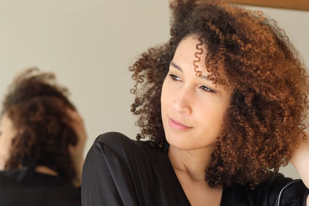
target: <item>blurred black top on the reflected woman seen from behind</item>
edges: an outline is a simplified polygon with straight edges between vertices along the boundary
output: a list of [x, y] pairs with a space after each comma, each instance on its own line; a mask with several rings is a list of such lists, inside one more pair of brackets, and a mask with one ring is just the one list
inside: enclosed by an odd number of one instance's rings
[[80, 188], [62, 177], [27, 170], [0, 171], [1, 206], [81, 206]]

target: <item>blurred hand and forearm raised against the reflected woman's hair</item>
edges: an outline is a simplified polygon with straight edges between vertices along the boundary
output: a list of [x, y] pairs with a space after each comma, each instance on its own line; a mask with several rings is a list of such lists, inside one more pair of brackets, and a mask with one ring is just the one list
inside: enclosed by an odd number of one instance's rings
[[75, 187], [80, 187], [84, 164], [83, 151], [87, 140], [87, 133], [83, 119], [78, 112], [72, 109], [67, 109], [66, 112], [70, 119], [63, 121], [74, 130], [78, 138], [76, 145], [69, 145], [69, 152], [76, 172], [76, 179], [74, 179], [73, 184]]

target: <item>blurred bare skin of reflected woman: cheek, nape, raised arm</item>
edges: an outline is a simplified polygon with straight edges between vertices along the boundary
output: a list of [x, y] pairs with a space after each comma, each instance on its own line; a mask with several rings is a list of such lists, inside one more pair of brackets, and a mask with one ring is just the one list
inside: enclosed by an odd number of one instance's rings
[[[68, 109], [67, 112], [71, 120], [64, 121], [74, 129], [78, 136], [78, 144], [70, 146], [69, 151], [77, 174], [77, 178], [74, 179], [73, 184], [75, 187], [80, 187], [84, 164], [83, 149], [87, 139], [87, 134], [83, 124], [83, 119], [79, 116], [78, 112], [70, 109]], [[6, 161], [9, 159], [11, 143], [17, 132], [18, 130], [14, 127], [12, 120], [6, 113], [4, 113], [0, 120], [0, 170], [4, 169]], [[54, 170], [42, 165], [36, 167], [36, 172], [53, 176], [58, 175]]]

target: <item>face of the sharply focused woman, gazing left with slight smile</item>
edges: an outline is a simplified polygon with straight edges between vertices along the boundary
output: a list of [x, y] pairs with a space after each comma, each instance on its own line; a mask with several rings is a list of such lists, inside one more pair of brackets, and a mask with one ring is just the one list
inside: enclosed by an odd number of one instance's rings
[[[208, 78], [203, 56], [197, 62], [202, 76], [194, 71], [194, 56], [199, 41], [191, 37], [180, 42], [163, 82], [161, 114], [165, 136], [178, 149], [213, 147], [221, 133], [223, 115], [232, 89], [215, 86]], [[205, 54], [203, 49], [203, 54]], [[220, 78], [224, 78], [220, 74]]]

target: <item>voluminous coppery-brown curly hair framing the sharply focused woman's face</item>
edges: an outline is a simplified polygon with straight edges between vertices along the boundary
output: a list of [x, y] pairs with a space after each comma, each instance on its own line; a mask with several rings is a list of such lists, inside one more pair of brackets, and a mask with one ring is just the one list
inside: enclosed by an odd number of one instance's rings
[[[131, 111], [139, 117], [137, 139], [149, 137], [152, 145], [165, 140], [163, 81], [180, 41], [197, 36], [197, 61], [205, 61], [214, 84], [233, 88], [205, 180], [211, 187], [254, 188], [289, 163], [300, 136], [306, 140], [309, 83], [303, 59], [262, 11], [216, 0], [173, 0], [170, 9], [170, 40], [149, 48], [129, 67], [136, 81]], [[206, 48], [202, 60], [201, 46]], [[220, 79], [222, 67], [227, 81]]]

